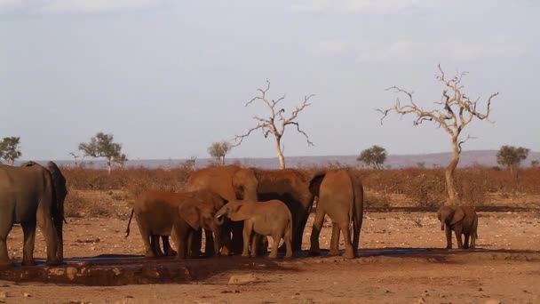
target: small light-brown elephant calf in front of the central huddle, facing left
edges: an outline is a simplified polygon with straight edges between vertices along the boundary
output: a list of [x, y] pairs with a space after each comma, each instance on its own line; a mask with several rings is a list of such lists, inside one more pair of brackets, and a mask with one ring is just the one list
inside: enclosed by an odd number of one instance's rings
[[[231, 201], [225, 204], [218, 212], [216, 218], [226, 215], [234, 221], [243, 220], [243, 250], [242, 257], [255, 257], [257, 255], [258, 236], [272, 236], [274, 246], [270, 258], [277, 258], [277, 249], [280, 240], [285, 243], [285, 257], [292, 256], [292, 215], [286, 204], [279, 200], [267, 202]], [[251, 240], [251, 254], [250, 254]]]

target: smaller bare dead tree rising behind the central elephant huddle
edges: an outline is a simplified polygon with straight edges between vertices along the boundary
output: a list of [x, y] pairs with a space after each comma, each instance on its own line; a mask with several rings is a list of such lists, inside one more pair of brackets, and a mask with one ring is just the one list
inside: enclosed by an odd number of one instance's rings
[[236, 147], [240, 145], [246, 137], [250, 136], [251, 132], [254, 132], [256, 130], [261, 130], [263, 132], [263, 135], [265, 138], [268, 137], [269, 134], [274, 135], [275, 138], [275, 149], [277, 152], [277, 156], [280, 161], [280, 167], [282, 169], [285, 169], [285, 157], [283, 156], [283, 145], [282, 145], [282, 138], [283, 134], [285, 133], [285, 127], [288, 125], [295, 125], [297, 127], [297, 132], [302, 133], [306, 137], [307, 146], [314, 146], [314, 143], [309, 140], [309, 136], [306, 132], [302, 131], [300, 129], [300, 125], [296, 121], [298, 114], [306, 107], [310, 106], [309, 100], [314, 97], [314, 94], [311, 94], [309, 96], [304, 97], [304, 101], [302, 104], [297, 107], [289, 117], [285, 117], [285, 109], [284, 108], [278, 108], [279, 103], [285, 99], [285, 95], [283, 95], [281, 98], [277, 100], [269, 100], [266, 97], [266, 93], [270, 90], [270, 82], [266, 80], [266, 89], [258, 89], [258, 92], [260, 93], [259, 96], [254, 97], [250, 101], [248, 101], [245, 104], [245, 107], [248, 107], [251, 103], [253, 103], [256, 100], [260, 100], [266, 104], [266, 106], [270, 109], [270, 116], [267, 118], [262, 118], [260, 116], [253, 116], [253, 119], [255, 119], [258, 124], [248, 130], [248, 132], [242, 134], [242, 135], [236, 135], [234, 137], [234, 141], [237, 143], [233, 145], [233, 147]]

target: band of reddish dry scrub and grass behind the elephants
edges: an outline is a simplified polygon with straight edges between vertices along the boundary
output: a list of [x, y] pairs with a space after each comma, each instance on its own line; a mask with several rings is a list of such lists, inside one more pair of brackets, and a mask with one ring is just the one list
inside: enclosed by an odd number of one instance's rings
[[[306, 174], [325, 169], [348, 169], [339, 163], [328, 167], [303, 167]], [[353, 170], [361, 176], [369, 207], [436, 206], [446, 197], [444, 169], [408, 168], [393, 170]], [[148, 189], [182, 191], [190, 174], [189, 167], [172, 169], [129, 168], [114, 171], [64, 168], [69, 195], [67, 217], [116, 216], [125, 218], [129, 204]], [[458, 169], [456, 184], [466, 204], [501, 204], [540, 196], [540, 168], [520, 169], [517, 177], [496, 168]], [[530, 199], [529, 199], [530, 200]], [[122, 202], [126, 210], [118, 210]], [[127, 204], [125, 203], [127, 202]]]

